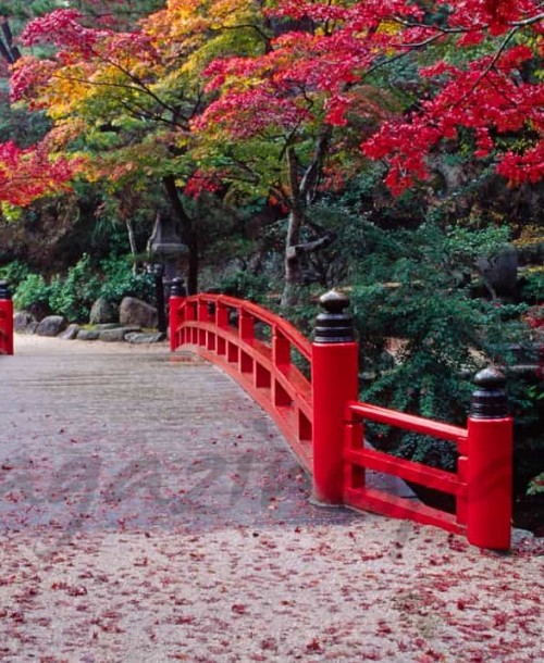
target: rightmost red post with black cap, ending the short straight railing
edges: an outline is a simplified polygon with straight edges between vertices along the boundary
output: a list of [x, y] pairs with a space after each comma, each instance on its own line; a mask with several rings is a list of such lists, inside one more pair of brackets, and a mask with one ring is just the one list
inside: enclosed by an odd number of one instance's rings
[[484, 368], [474, 378], [468, 417], [467, 538], [473, 546], [509, 550], [512, 500], [512, 420], [506, 380]]

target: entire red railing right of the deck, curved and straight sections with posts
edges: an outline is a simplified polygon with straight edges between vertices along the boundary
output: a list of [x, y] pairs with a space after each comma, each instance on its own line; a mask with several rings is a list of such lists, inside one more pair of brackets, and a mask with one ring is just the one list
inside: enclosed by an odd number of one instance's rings
[[[220, 365], [276, 422], [304, 467], [317, 501], [347, 504], [463, 534], [481, 548], [508, 550], [511, 521], [512, 421], [504, 376], [475, 378], [467, 427], [358, 402], [358, 343], [349, 303], [321, 298], [310, 342], [283, 318], [222, 295], [170, 299], [171, 350], [186, 347]], [[296, 359], [295, 359], [296, 358]], [[307, 364], [307, 371], [300, 364]], [[412, 430], [457, 446], [456, 473], [368, 448], [364, 422]], [[366, 485], [374, 471], [455, 496], [449, 514]]]

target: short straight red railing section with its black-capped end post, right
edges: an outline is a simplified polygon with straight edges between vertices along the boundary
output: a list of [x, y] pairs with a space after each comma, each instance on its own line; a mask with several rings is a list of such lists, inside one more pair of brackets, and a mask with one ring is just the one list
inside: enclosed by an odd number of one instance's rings
[[[345, 499], [350, 504], [384, 515], [408, 517], [466, 534], [483, 548], [508, 549], [511, 520], [512, 420], [507, 414], [504, 376], [494, 368], [475, 377], [467, 427], [387, 410], [370, 403], [348, 402], [345, 412], [344, 459], [348, 470]], [[456, 472], [375, 451], [364, 442], [364, 421], [411, 430], [457, 445]], [[382, 472], [432, 490], [455, 496], [455, 513], [430, 508], [387, 492], [367, 488], [364, 471]]]

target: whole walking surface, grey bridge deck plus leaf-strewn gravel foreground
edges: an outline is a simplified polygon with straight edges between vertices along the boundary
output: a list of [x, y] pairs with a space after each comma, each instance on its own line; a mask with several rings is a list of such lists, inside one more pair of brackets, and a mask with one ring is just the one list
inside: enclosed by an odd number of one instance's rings
[[497, 555], [312, 506], [268, 417], [164, 346], [16, 352], [0, 358], [0, 661], [544, 660], [542, 539]]

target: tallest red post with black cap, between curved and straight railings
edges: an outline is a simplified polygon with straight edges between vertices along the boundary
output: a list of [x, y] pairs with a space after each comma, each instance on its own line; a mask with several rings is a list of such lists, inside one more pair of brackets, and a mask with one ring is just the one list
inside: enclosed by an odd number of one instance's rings
[[349, 299], [335, 290], [319, 300], [312, 343], [313, 498], [325, 504], [344, 501], [344, 423], [346, 404], [358, 400], [359, 346]]

